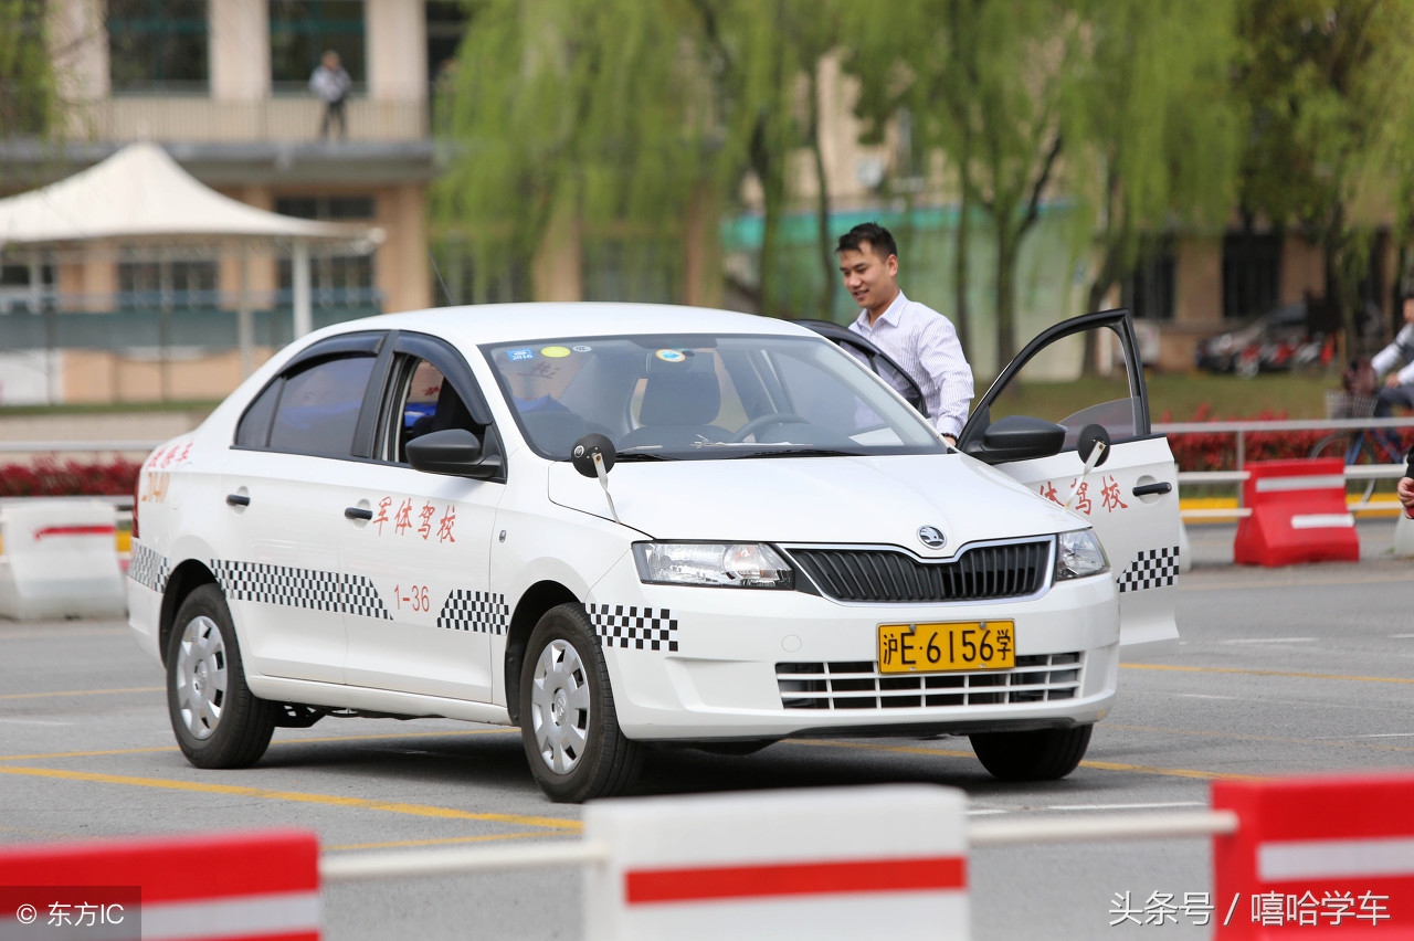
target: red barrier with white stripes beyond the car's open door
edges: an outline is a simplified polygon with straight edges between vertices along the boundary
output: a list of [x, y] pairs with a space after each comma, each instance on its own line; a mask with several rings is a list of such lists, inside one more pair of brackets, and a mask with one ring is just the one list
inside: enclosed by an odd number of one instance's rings
[[1239, 565], [1357, 562], [1360, 537], [1345, 502], [1345, 463], [1254, 461], [1247, 465], [1233, 561]]

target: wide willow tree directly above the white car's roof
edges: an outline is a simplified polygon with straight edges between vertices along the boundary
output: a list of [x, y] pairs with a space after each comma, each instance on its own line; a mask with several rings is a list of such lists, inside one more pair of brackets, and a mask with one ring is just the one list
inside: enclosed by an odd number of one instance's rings
[[[833, 3], [833, 0], [830, 0]], [[781, 222], [800, 93], [830, 40], [809, 0], [478, 0], [438, 120], [434, 213], [522, 257], [561, 227], [715, 235], [759, 184], [762, 312], [781, 314]], [[812, 17], [816, 17], [812, 20]], [[809, 44], [806, 37], [816, 37]]]

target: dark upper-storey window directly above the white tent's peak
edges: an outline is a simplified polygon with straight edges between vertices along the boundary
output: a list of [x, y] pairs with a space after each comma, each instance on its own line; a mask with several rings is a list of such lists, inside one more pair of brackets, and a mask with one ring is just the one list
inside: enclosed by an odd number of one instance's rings
[[206, 0], [107, 0], [106, 24], [115, 92], [206, 92]]

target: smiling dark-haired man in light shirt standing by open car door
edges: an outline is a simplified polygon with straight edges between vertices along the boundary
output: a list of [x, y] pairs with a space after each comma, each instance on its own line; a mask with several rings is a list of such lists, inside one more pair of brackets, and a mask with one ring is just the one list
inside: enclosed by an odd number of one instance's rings
[[854, 226], [840, 236], [834, 251], [844, 287], [863, 308], [850, 329], [912, 376], [933, 425], [947, 444], [956, 444], [973, 398], [971, 367], [957, 331], [946, 316], [909, 301], [899, 290], [898, 244], [884, 226]]

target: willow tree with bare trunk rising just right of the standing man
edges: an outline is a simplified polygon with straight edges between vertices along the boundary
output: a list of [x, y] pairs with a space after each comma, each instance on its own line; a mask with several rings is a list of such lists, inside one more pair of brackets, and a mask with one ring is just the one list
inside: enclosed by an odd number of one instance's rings
[[[861, 16], [851, 71], [861, 113], [884, 122], [906, 106], [923, 141], [942, 150], [963, 199], [991, 227], [997, 362], [1017, 352], [1017, 270], [1025, 237], [1052, 194], [1066, 140], [1065, 79], [1082, 68], [1082, 18], [1062, 0], [905, 0]], [[970, 251], [957, 239], [959, 304]]]

